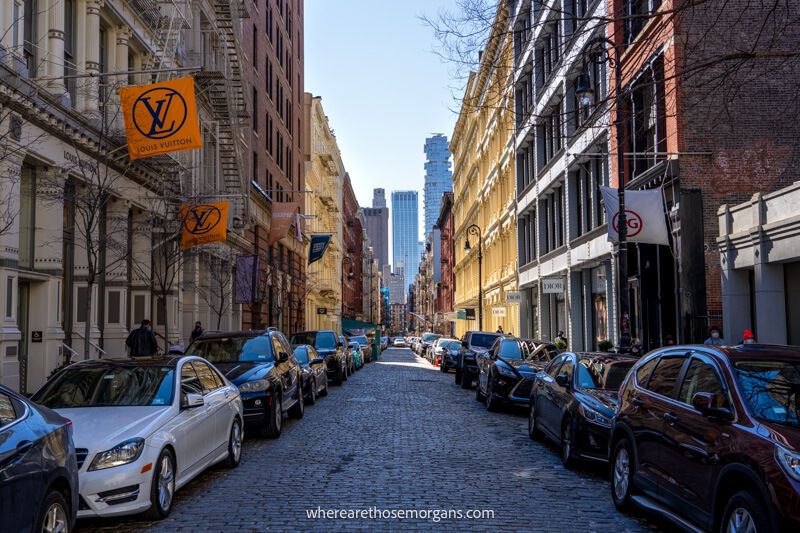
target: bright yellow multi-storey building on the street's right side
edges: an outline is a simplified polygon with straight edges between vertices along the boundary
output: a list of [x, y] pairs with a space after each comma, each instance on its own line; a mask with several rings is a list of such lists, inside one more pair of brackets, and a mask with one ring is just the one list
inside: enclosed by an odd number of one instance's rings
[[[457, 310], [474, 309], [475, 320], [456, 321], [456, 335], [479, 329], [478, 247], [482, 242], [483, 330], [519, 332], [512, 32], [506, 2], [495, 22], [478, 72], [470, 74], [450, 141], [453, 152]], [[468, 233], [476, 225], [480, 238]], [[465, 250], [469, 239], [470, 250]]]

